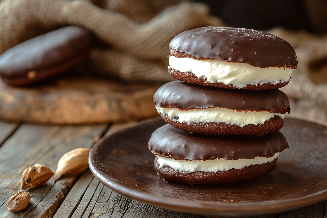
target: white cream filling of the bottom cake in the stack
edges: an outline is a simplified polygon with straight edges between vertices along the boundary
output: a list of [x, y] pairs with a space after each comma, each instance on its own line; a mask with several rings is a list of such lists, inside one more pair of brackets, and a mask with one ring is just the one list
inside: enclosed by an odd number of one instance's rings
[[230, 169], [242, 169], [246, 166], [255, 164], [264, 164], [271, 162], [278, 158], [279, 153], [276, 153], [272, 158], [256, 157], [254, 159], [238, 159], [238, 160], [224, 160], [214, 159], [214, 160], [175, 160], [173, 158], [158, 157], [157, 162], [159, 163], [159, 168], [164, 166], [169, 166], [174, 170], [179, 170], [182, 172], [218, 172], [227, 171]]

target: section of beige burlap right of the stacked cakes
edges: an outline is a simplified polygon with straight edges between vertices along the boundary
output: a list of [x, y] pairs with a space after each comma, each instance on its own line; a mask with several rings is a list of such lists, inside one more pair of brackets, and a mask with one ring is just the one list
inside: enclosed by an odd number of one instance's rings
[[269, 32], [291, 43], [299, 61], [289, 84], [281, 88], [291, 100], [289, 116], [327, 126], [327, 35], [282, 28]]

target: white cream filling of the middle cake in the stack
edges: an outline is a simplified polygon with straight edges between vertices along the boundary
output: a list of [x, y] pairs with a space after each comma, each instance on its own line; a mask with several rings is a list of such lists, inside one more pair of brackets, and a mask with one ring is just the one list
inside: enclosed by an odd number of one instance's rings
[[159, 114], [166, 113], [170, 119], [173, 117], [178, 117], [179, 122], [187, 124], [191, 124], [192, 122], [223, 122], [226, 124], [234, 124], [243, 127], [248, 124], [263, 124], [275, 116], [280, 116], [283, 119], [285, 117], [284, 114], [270, 113], [267, 111], [239, 112], [226, 108], [179, 110], [177, 108], [161, 108], [156, 106], [156, 109]]

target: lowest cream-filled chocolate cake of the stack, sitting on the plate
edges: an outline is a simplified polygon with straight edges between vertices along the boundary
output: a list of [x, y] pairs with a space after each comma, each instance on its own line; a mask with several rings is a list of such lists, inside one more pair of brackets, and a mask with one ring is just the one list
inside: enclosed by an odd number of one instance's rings
[[211, 136], [166, 124], [153, 132], [148, 147], [165, 182], [227, 184], [270, 173], [279, 153], [289, 146], [281, 132], [262, 137]]

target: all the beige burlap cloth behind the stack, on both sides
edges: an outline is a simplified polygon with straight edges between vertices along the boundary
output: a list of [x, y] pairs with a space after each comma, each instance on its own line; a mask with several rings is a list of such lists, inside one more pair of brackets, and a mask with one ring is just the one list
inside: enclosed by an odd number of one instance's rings
[[[81, 71], [125, 81], [172, 80], [168, 44], [178, 33], [224, 25], [203, 4], [178, 0], [3, 0], [0, 2], [0, 54], [62, 25], [80, 25], [97, 46]], [[327, 125], [327, 36], [274, 28], [290, 42], [298, 69], [282, 90], [291, 99], [291, 116]], [[101, 46], [100, 46], [101, 45]]]

